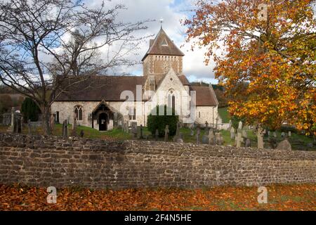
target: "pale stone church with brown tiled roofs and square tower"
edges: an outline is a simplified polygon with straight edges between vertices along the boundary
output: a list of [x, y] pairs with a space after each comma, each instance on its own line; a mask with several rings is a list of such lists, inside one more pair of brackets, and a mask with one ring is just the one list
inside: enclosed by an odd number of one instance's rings
[[[184, 124], [216, 124], [218, 100], [213, 87], [192, 86], [183, 74], [183, 54], [163, 29], [150, 40], [143, 57], [143, 76], [80, 76], [62, 81], [67, 87], [51, 106], [56, 122], [107, 131], [123, 124], [146, 126], [157, 105], [168, 105]], [[79, 80], [80, 79], [80, 80]]]

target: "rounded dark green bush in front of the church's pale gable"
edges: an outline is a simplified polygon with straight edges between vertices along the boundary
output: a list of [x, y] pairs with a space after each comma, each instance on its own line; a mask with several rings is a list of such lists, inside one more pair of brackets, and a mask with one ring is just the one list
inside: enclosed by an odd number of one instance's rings
[[[164, 115], [159, 115], [159, 107], [164, 107]], [[156, 110], [156, 114], [154, 114]], [[152, 133], [156, 134], [156, 129], [159, 131], [159, 136], [164, 136], [164, 129], [166, 125], [169, 125], [169, 136], [174, 136], [177, 130], [177, 123], [179, 121], [178, 115], [175, 115], [173, 110], [172, 115], [166, 115], [167, 110], [171, 111], [171, 108], [167, 108], [166, 105], [157, 105], [156, 108], [152, 110], [152, 113], [147, 116], [147, 128]]]

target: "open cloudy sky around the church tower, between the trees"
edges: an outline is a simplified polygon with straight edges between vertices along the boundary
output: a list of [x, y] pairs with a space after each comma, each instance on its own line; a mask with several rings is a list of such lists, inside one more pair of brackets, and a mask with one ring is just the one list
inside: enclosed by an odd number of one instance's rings
[[[87, 4], [91, 6], [98, 6], [102, 0], [88, 1]], [[112, 0], [107, 2], [107, 6], [114, 4], [124, 4], [125, 11], [121, 11], [118, 19], [124, 22], [136, 22], [138, 20], [155, 20], [147, 23], [147, 30], [143, 30], [140, 36], [154, 35], [148, 38], [140, 45], [136, 55], [129, 56], [132, 60], [142, 60], [143, 56], [149, 48], [150, 39], [154, 39], [159, 32], [161, 23], [159, 20], [163, 18], [164, 23], [162, 27], [169, 35], [171, 40], [180, 48], [185, 54], [183, 58], [183, 72], [190, 82], [207, 82], [216, 84], [214, 79], [213, 62], [206, 66], [204, 63], [204, 53], [206, 49], [198, 49], [191, 51], [191, 44], [185, 42], [185, 27], [180, 24], [180, 20], [187, 18], [190, 14], [190, 9], [194, 7], [195, 0]], [[117, 68], [115, 73], [127, 73], [132, 75], [143, 75], [142, 65], [134, 65], [129, 68]]]

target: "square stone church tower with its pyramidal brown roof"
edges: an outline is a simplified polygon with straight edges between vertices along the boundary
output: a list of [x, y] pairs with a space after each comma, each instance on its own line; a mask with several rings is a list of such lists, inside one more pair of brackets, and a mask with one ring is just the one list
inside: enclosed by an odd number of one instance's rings
[[143, 58], [143, 75], [154, 77], [165, 75], [172, 67], [177, 75], [183, 73], [183, 52], [161, 28]]

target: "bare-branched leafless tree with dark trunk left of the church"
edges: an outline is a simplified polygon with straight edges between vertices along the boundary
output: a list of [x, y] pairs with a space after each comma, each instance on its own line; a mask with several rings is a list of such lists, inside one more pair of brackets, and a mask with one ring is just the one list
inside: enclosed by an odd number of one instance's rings
[[[0, 81], [39, 105], [46, 134], [51, 104], [67, 91], [62, 81], [76, 76], [82, 82], [87, 74], [137, 63], [126, 55], [145, 39], [135, 33], [147, 21], [117, 21], [124, 9], [104, 2], [89, 8], [80, 0], [0, 2]], [[104, 60], [100, 49], [108, 51]]]

